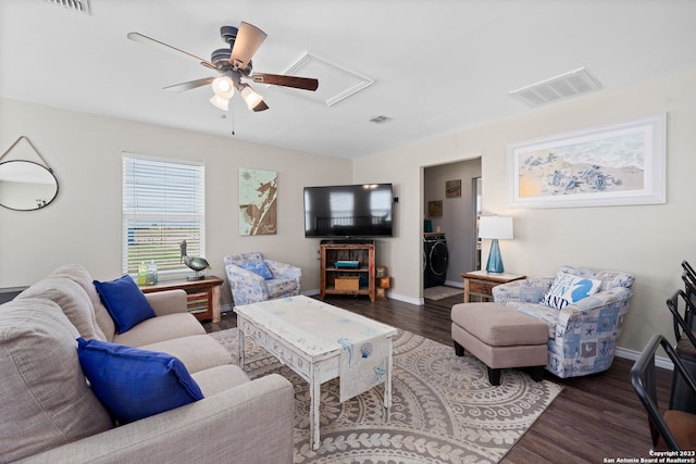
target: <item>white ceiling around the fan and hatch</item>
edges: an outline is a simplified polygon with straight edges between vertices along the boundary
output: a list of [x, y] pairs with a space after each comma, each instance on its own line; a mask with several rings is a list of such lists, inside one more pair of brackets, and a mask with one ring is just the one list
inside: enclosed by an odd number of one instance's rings
[[[0, 97], [222, 137], [234, 125], [236, 139], [359, 158], [533, 111], [508, 92], [581, 66], [600, 91], [696, 68], [693, 0], [89, 4], [85, 15], [46, 0], [0, 1]], [[271, 109], [252, 113], [237, 97], [225, 115], [208, 86], [162, 90], [210, 70], [126, 39], [138, 32], [210, 59], [225, 46], [220, 26], [240, 21], [269, 36], [256, 72], [283, 74], [309, 52], [374, 84], [332, 106], [252, 84]], [[368, 122], [375, 115], [393, 121]]]

